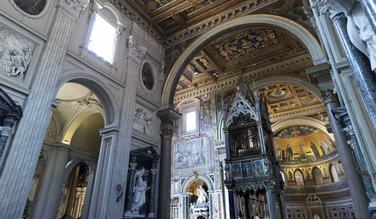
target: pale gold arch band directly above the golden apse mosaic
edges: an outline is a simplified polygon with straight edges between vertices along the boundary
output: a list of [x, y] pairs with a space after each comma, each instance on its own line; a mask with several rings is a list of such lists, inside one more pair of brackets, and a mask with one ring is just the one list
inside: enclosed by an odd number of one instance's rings
[[328, 130], [324, 127], [324, 123], [321, 121], [318, 121], [314, 118], [308, 118], [308, 117], [296, 117], [292, 119], [285, 119], [278, 121], [272, 125], [272, 131], [274, 133], [277, 133], [277, 131], [280, 131], [283, 128], [286, 128], [288, 126], [295, 126], [295, 125], [302, 125], [302, 126], [310, 126], [313, 128], [317, 128], [321, 131], [323, 131], [325, 134], [327, 134], [331, 140], [334, 142], [334, 136], [333, 134], [330, 134]]

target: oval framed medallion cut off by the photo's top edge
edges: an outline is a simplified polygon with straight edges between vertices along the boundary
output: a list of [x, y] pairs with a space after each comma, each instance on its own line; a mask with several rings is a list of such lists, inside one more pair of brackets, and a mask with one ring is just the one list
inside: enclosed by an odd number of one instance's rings
[[21, 15], [32, 19], [42, 18], [51, 5], [51, 0], [9, 0], [9, 2]]

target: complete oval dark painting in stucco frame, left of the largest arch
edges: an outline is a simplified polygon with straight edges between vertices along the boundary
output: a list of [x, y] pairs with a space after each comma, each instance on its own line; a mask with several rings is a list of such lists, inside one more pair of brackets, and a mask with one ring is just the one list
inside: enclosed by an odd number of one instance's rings
[[147, 96], [154, 94], [157, 89], [158, 75], [156, 66], [157, 61], [153, 60], [149, 55], [146, 55], [141, 62], [139, 81], [142, 91]]

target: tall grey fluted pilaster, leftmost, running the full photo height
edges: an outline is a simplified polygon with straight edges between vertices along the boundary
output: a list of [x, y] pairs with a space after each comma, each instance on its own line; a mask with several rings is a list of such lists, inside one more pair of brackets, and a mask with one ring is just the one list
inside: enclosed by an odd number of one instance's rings
[[[60, 0], [43, 46], [23, 117], [0, 176], [0, 218], [20, 219], [51, 115], [70, 36], [89, 0]], [[37, 116], [36, 116], [37, 115]]]

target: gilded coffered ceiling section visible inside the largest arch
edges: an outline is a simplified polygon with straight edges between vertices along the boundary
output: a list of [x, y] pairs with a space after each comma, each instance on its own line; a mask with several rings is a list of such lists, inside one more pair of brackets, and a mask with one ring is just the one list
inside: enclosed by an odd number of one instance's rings
[[244, 29], [221, 36], [200, 51], [186, 67], [177, 91], [199, 89], [258, 70], [265, 71], [263, 76], [288, 73], [306, 77], [301, 70], [311, 65], [308, 51], [295, 38], [273, 29]]

